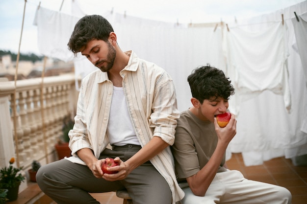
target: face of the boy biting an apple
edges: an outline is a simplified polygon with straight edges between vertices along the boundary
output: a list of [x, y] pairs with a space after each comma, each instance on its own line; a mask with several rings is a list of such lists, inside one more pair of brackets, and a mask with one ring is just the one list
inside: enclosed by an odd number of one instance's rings
[[214, 122], [214, 115], [225, 113], [228, 109], [228, 100], [224, 98], [212, 97], [210, 100], [205, 99], [203, 104], [199, 106], [199, 117], [202, 120], [210, 120]]

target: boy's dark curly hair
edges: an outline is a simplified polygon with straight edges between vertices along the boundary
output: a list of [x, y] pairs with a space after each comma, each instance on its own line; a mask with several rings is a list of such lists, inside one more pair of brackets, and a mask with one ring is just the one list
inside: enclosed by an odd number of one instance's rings
[[209, 64], [194, 69], [188, 76], [192, 96], [201, 104], [212, 97], [229, 100], [230, 95], [234, 94], [234, 88], [228, 79], [222, 70], [210, 67]]

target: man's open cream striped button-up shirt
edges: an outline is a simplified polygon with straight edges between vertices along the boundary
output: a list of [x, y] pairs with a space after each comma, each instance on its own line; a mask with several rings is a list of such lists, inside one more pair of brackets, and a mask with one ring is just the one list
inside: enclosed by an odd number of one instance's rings
[[[179, 111], [171, 77], [164, 69], [139, 59], [134, 52], [127, 54], [130, 55], [128, 65], [120, 74], [131, 123], [141, 146], [145, 146], [153, 136], [159, 136], [173, 145]], [[75, 126], [69, 133], [73, 157], [67, 159], [84, 165], [77, 157], [78, 150], [90, 148], [98, 159], [106, 148], [109, 143], [106, 128], [112, 93], [113, 84], [107, 73], [100, 69], [82, 80]], [[184, 194], [176, 181], [170, 148], [153, 157], [151, 162], [169, 183], [175, 204]]]

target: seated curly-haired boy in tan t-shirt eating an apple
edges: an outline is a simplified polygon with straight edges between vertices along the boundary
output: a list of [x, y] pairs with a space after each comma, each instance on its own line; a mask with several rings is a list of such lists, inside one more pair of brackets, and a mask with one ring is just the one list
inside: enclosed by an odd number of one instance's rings
[[172, 152], [182, 204], [291, 204], [291, 193], [281, 186], [251, 181], [225, 165], [228, 144], [236, 134], [236, 119], [219, 127], [215, 115], [228, 111], [231, 81], [218, 68], [196, 68], [188, 76], [192, 107], [180, 114]]

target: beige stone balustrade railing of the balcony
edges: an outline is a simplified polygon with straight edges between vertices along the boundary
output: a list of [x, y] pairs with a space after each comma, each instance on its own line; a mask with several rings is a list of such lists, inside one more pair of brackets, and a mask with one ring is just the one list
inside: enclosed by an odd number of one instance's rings
[[[57, 160], [54, 145], [62, 134], [63, 118], [74, 117], [78, 91], [74, 74], [26, 80], [0, 80], [0, 168], [9, 159], [27, 170], [31, 162]], [[27, 179], [28, 180], [28, 179]], [[26, 188], [26, 183], [20, 191]]]

